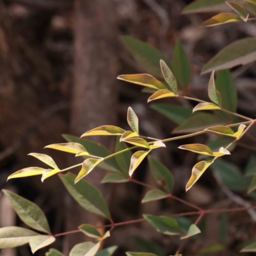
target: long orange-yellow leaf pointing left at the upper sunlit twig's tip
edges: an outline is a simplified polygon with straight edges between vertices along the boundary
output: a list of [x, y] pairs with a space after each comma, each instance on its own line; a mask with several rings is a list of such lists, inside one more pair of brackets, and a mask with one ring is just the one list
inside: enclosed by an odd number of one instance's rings
[[139, 84], [142, 86], [147, 86], [152, 89], [161, 90], [166, 89], [163, 83], [157, 80], [155, 77], [148, 74], [134, 74], [134, 75], [121, 75], [117, 79], [129, 82], [132, 84]]

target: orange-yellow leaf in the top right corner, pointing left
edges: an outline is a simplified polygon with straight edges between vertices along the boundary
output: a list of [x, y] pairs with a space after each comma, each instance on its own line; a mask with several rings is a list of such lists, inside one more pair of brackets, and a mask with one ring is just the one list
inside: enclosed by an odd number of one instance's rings
[[218, 15], [215, 15], [209, 20], [205, 20], [201, 24], [201, 28], [205, 27], [212, 27], [212, 26], [219, 26], [222, 24], [230, 23], [230, 22], [237, 22], [237, 21], [242, 21], [240, 17], [237, 17], [237, 15], [231, 14], [231, 13], [220, 13]]

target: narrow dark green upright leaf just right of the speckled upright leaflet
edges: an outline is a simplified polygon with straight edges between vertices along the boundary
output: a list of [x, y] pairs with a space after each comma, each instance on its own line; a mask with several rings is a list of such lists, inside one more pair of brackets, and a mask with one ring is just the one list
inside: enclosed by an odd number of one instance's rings
[[191, 80], [191, 65], [182, 44], [177, 40], [172, 58], [172, 72], [181, 88], [187, 88]]

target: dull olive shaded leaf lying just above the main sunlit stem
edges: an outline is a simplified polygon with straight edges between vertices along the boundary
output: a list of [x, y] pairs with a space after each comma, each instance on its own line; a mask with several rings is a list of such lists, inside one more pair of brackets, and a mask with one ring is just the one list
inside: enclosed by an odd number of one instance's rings
[[198, 132], [206, 129], [212, 125], [225, 124], [227, 120], [223, 120], [220, 116], [212, 115], [208, 113], [198, 113], [193, 115], [183, 124], [175, 128], [172, 133], [189, 133], [189, 132]]

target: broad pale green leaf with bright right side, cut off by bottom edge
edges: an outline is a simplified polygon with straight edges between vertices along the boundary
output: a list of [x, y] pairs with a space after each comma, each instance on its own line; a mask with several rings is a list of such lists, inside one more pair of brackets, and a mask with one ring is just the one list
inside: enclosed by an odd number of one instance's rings
[[100, 242], [95, 244], [92, 242], [85, 242], [76, 244], [69, 256], [94, 256], [100, 248]]

